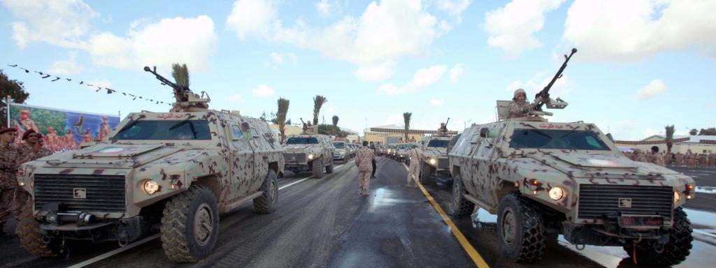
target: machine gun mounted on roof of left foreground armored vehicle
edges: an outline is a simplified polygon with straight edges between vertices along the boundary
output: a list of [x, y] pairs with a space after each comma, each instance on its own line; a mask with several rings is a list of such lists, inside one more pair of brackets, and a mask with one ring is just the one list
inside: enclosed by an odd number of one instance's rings
[[[173, 93], [176, 102], [174, 103], [171, 111], [205, 111], [209, 108], [208, 103], [211, 101], [211, 98], [209, 98], [205, 91], [201, 91], [201, 96], [199, 96], [189, 89], [188, 84], [181, 85], [179, 83], [169, 81], [169, 79], [166, 79], [164, 76], [157, 73], [157, 66], [154, 66], [154, 69], [150, 69], [149, 66], [144, 66], [144, 71], [154, 74], [154, 76], [162, 82], [163, 85], [171, 86], [172, 89], [174, 89]], [[207, 96], [204, 99], [203, 96], [205, 94]]]

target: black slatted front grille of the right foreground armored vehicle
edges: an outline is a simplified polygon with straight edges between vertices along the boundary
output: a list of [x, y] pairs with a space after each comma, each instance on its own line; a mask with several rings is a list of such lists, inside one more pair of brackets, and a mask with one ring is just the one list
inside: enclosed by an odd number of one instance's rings
[[[668, 222], [672, 217], [672, 187], [614, 184], [581, 184], [579, 218], [599, 219], [603, 214], [659, 214]], [[630, 199], [631, 207], [619, 207], [619, 199]]]

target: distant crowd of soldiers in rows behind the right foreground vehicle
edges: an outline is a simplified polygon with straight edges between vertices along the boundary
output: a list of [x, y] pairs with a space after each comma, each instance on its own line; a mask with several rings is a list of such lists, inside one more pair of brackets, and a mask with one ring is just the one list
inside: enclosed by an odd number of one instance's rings
[[624, 152], [629, 159], [638, 162], [649, 162], [662, 167], [716, 167], [716, 154], [687, 154], [659, 152], [657, 147], [652, 147], [651, 153], [634, 149], [634, 152]]

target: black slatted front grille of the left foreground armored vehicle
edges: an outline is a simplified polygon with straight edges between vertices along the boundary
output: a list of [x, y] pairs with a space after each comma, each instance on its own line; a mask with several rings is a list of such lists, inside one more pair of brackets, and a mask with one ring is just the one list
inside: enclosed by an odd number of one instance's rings
[[124, 176], [35, 174], [34, 192], [35, 209], [62, 202], [66, 211], [125, 212], [127, 205]]

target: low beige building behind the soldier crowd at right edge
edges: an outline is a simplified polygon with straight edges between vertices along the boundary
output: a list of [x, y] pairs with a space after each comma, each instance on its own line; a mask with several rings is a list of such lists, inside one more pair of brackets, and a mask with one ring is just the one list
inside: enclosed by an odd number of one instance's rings
[[[649, 151], [659, 147], [659, 152], [667, 151], [666, 137], [654, 135], [641, 141], [614, 141], [622, 151], [640, 149]], [[672, 153], [716, 154], [716, 136], [674, 136]]]

